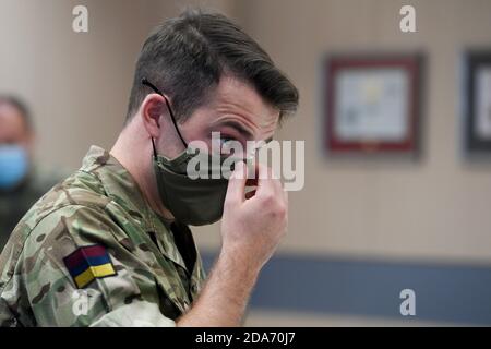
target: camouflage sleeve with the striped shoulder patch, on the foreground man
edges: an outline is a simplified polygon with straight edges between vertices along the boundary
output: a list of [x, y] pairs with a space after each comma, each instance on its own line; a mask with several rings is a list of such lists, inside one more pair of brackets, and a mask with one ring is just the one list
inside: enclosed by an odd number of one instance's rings
[[[33, 229], [20, 264], [38, 326], [175, 326], [157, 300], [142, 297], [130, 273], [140, 261], [119, 243], [124, 237], [105, 213], [76, 205], [50, 214]], [[91, 245], [104, 246], [115, 273], [95, 274], [82, 285], [65, 258]]]

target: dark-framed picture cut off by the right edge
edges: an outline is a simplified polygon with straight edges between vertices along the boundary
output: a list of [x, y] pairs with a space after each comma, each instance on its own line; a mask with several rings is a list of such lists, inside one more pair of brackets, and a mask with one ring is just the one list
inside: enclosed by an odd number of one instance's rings
[[491, 50], [467, 52], [465, 71], [465, 151], [491, 158]]

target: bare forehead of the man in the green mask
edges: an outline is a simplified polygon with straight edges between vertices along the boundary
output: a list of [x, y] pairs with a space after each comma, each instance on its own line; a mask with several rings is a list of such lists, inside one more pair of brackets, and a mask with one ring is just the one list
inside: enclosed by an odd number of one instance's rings
[[267, 104], [251, 85], [238, 79], [224, 77], [213, 99], [212, 105], [219, 117], [239, 119], [261, 134], [276, 130], [279, 110]]

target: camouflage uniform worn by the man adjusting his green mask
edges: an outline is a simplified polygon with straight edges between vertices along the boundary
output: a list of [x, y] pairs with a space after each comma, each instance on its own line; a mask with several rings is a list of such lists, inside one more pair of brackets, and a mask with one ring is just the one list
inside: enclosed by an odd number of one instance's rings
[[[67, 257], [79, 253], [85, 265], [80, 252], [94, 245], [113, 273], [87, 268], [92, 281], [80, 285]], [[205, 277], [189, 228], [164, 221], [130, 173], [95, 146], [21, 220], [0, 270], [3, 326], [172, 326]]]

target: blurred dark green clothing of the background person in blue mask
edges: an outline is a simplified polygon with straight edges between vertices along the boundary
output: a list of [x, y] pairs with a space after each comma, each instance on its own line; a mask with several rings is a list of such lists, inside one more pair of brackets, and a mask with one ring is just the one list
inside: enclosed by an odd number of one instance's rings
[[22, 216], [61, 178], [34, 169], [21, 186], [0, 191], [0, 252]]

